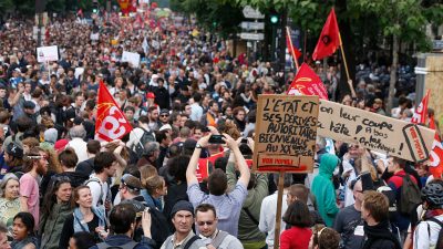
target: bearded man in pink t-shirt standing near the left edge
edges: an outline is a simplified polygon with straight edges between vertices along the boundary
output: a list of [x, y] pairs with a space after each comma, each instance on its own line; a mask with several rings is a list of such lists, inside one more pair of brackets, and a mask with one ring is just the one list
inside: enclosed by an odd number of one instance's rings
[[23, 169], [25, 174], [20, 178], [21, 210], [31, 212], [35, 220], [35, 227], [38, 227], [40, 220], [40, 189], [38, 178], [48, 172], [45, 152], [40, 147], [32, 148], [24, 156]]

